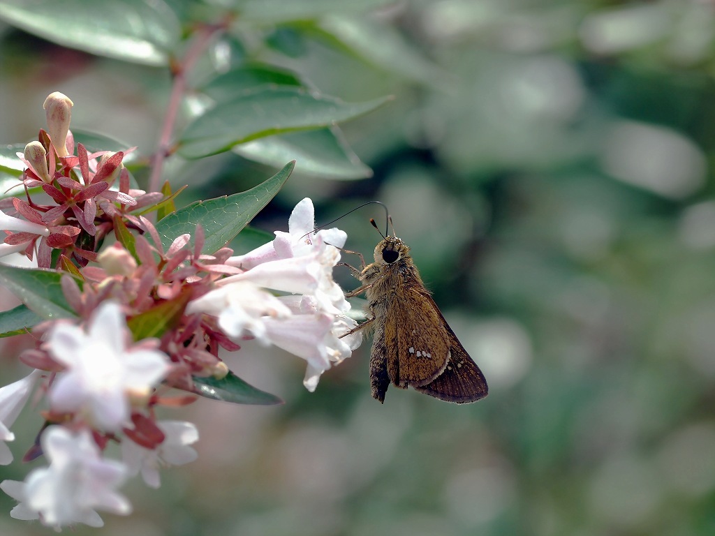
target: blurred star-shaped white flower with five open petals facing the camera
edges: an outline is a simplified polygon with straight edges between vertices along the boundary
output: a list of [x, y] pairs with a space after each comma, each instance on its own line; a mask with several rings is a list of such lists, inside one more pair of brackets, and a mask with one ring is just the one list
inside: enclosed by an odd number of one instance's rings
[[52, 410], [82, 412], [104, 430], [129, 421], [129, 397], [149, 396], [171, 369], [165, 354], [129, 348], [129, 330], [119, 305], [105, 302], [94, 312], [87, 333], [66, 322], [49, 332], [47, 347], [66, 372], [49, 391]]

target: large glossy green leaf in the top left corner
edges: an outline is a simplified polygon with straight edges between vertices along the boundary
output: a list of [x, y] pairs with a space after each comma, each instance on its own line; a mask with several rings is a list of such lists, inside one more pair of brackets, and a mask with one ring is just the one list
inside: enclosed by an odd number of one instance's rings
[[4, 0], [0, 19], [89, 54], [164, 66], [181, 26], [162, 0]]

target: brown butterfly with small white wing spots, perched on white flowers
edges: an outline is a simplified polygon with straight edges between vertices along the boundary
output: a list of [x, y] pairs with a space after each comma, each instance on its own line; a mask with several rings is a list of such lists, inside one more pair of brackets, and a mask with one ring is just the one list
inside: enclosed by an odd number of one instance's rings
[[[370, 222], [377, 229], [375, 221]], [[390, 382], [456, 404], [476, 402], [488, 394], [484, 375], [425, 288], [405, 242], [383, 237], [375, 247], [375, 262], [365, 266], [363, 261], [362, 271], [351, 268], [362, 285], [346, 295], [365, 292], [370, 314], [352, 332], [374, 329], [374, 398], [384, 402]]]

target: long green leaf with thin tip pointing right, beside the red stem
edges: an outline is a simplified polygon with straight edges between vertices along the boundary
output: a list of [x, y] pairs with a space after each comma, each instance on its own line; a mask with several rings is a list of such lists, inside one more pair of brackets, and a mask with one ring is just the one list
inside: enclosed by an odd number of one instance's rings
[[222, 102], [194, 119], [179, 140], [178, 152], [185, 158], [207, 157], [252, 139], [346, 121], [388, 100], [348, 104], [292, 87], [263, 88]]

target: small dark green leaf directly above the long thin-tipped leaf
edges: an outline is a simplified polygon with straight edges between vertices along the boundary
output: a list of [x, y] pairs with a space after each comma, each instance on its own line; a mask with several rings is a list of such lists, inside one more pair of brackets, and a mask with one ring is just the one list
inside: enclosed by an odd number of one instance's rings
[[259, 86], [302, 86], [297, 75], [267, 64], [248, 64], [217, 76], [202, 91], [216, 101], [227, 101]]

